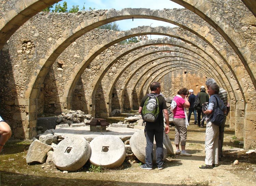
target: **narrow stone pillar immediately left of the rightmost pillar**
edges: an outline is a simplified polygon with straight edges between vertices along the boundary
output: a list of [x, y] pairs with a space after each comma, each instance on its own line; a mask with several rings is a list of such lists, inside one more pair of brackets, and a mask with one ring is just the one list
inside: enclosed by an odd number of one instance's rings
[[235, 134], [240, 139], [244, 137], [244, 101], [237, 101], [235, 117]]

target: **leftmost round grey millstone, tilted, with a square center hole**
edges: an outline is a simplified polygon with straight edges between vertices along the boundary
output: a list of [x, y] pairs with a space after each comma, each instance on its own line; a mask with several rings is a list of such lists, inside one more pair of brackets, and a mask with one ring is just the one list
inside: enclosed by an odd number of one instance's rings
[[91, 154], [89, 143], [79, 136], [68, 136], [53, 152], [53, 162], [57, 168], [76, 171], [84, 166]]

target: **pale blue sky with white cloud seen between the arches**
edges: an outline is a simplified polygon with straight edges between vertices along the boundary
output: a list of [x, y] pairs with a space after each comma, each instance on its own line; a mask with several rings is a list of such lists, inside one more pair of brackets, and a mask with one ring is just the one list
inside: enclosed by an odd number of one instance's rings
[[[68, 10], [72, 8], [72, 5], [79, 5], [79, 9], [83, 8], [85, 3], [85, 9], [95, 8], [97, 10], [100, 9], [115, 9], [121, 10], [124, 8], [147, 8], [151, 10], [156, 9], [174, 9], [174, 8], [184, 8], [183, 6], [174, 3], [170, 0], [62, 0], [59, 3], [66, 1], [68, 4]], [[133, 21], [128, 20], [120, 20], [116, 22], [121, 30], [130, 30], [131, 28], [136, 28], [138, 26], [170, 26], [173, 27], [170, 23], [157, 21], [153, 19], [134, 19]], [[154, 38], [162, 38], [162, 35], [152, 35], [152, 39]]]

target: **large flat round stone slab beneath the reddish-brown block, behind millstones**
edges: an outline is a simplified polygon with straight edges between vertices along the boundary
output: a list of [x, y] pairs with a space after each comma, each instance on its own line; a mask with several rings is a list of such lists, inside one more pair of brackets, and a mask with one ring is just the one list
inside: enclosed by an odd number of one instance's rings
[[84, 137], [87, 141], [92, 141], [99, 135], [116, 135], [123, 142], [129, 140], [131, 136], [140, 129], [108, 127], [106, 132], [91, 132], [89, 126], [60, 128], [54, 130], [54, 135], [58, 138], [67, 138], [70, 135], [77, 134]]

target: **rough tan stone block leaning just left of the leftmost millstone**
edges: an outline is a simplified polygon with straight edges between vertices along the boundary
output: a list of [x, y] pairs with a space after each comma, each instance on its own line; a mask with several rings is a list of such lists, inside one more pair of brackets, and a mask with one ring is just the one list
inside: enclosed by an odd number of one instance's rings
[[50, 145], [35, 140], [29, 146], [26, 161], [28, 164], [34, 162], [44, 163], [47, 153], [51, 150], [52, 147]]

